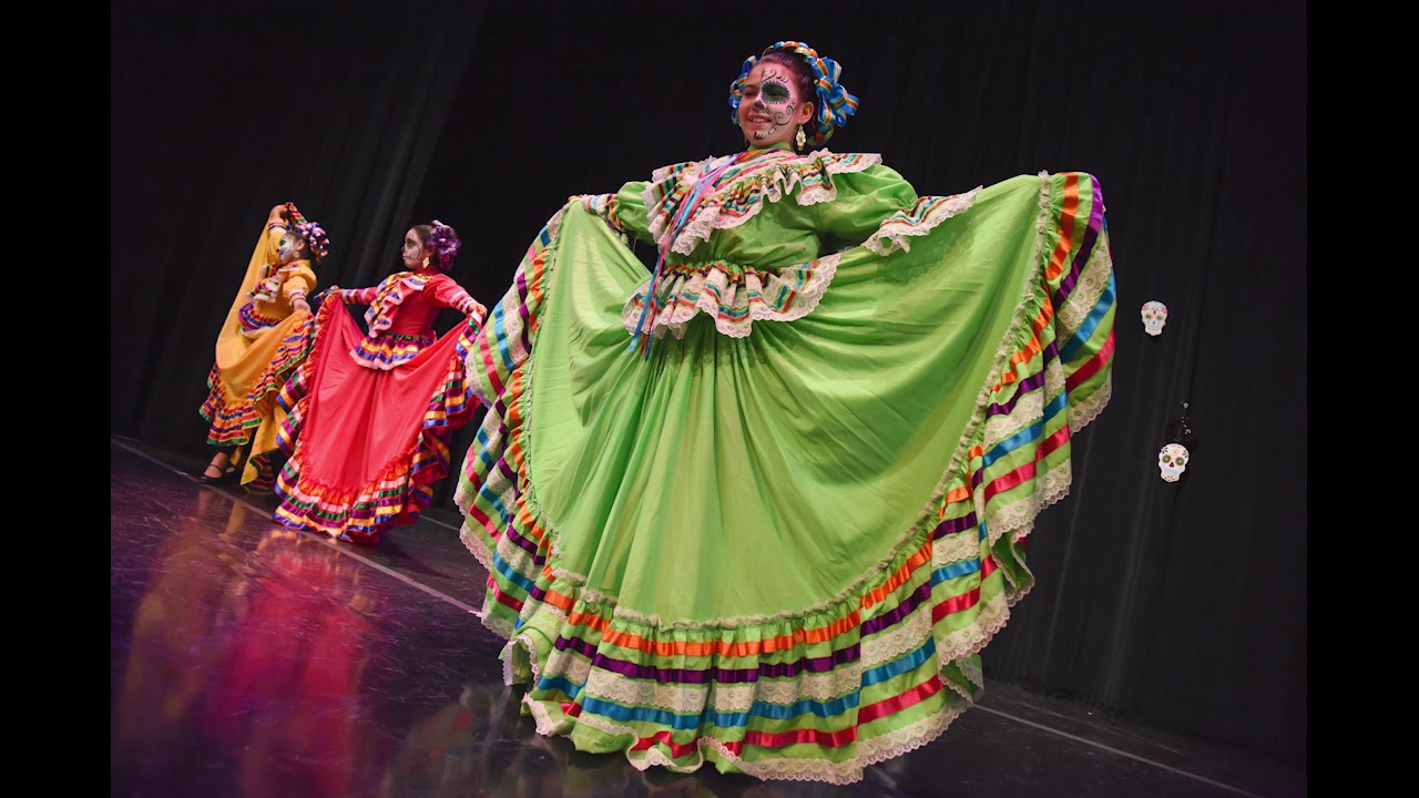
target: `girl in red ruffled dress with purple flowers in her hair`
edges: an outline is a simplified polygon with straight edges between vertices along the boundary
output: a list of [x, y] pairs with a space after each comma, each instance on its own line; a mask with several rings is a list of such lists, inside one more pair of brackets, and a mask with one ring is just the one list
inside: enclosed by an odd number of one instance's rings
[[[316, 314], [311, 356], [281, 390], [289, 413], [277, 477], [277, 518], [352, 542], [376, 544], [410, 524], [448, 473], [448, 434], [473, 417], [468, 342], [488, 312], [446, 273], [461, 246], [434, 220], [404, 236], [403, 261], [379, 285], [332, 287]], [[369, 332], [345, 308], [368, 304]], [[468, 319], [434, 339], [443, 308]]]

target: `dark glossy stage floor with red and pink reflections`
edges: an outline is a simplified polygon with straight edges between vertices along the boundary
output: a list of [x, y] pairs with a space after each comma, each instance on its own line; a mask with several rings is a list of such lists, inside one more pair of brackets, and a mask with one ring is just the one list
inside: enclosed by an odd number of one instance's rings
[[519, 716], [455, 514], [355, 548], [199, 484], [204, 460], [116, 437], [111, 456], [112, 795], [1307, 794], [1298, 767], [996, 682], [850, 787], [640, 772]]

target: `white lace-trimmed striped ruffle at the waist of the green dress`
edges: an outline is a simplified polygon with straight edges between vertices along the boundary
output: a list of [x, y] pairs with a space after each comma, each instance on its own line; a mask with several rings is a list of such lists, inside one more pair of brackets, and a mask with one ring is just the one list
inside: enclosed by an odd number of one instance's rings
[[[680, 277], [673, 271], [667, 275], [670, 280], [663, 278], [660, 288], [661, 294], [670, 294], [671, 297], [694, 295], [697, 297], [695, 302], [692, 305], [670, 302], [654, 317], [647, 314], [643, 324], [643, 332], [654, 335], [656, 338], [663, 338], [668, 331], [677, 339], [684, 338], [685, 325], [690, 319], [697, 314], [704, 312], [705, 315], [714, 318], [714, 327], [722, 335], [728, 335], [729, 338], [748, 338], [755, 321], [795, 321], [803, 318], [817, 308], [817, 302], [823, 298], [823, 294], [827, 293], [829, 284], [833, 283], [833, 275], [837, 274], [837, 264], [840, 260], [843, 260], [841, 253], [833, 253], [819, 258], [816, 261], [817, 267], [813, 270], [813, 277], [795, 294], [789, 307], [782, 311], [771, 307], [763, 297], [778, 293], [780, 287], [788, 284], [788, 280], [785, 280], [782, 274], [805, 268], [809, 264], [795, 264], [773, 270], [773, 273], [768, 275], [768, 284], [765, 284], [765, 281], [761, 280], [759, 274], [755, 271], [745, 271], [744, 280], [738, 281], [718, 266], [704, 273], [694, 274], [690, 278]], [[636, 288], [636, 293], [626, 300], [626, 305], [622, 308], [622, 327], [626, 328], [626, 332], [636, 332], [636, 322], [641, 318], [641, 308], [637, 304], [637, 300], [644, 302], [647, 285], [650, 285], [650, 280], [641, 283]], [[718, 300], [714, 293], [705, 290], [707, 285], [714, 285], [719, 290]], [[756, 298], [748, 298], [736, 304], [741, 294], [748, 297], [753, 291], [758, 291], [759, 294]], [[727, 302], [727, 305], [721, 305], [721, 302]], [[727, 307], [729, 310], [748, 310], [748, 315], [742, 321], [734, 319], [728, 315], [721, 315], [721, 311]]]

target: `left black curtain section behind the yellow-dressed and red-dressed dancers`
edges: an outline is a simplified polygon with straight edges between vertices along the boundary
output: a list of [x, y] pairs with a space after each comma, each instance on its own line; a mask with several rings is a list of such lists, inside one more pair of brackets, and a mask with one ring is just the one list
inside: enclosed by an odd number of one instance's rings
[[392, 271], [478, 16], [451, 0], [114, 4], [114, 432], [203, 449], [193, 409], [271, 206], [329, 231], [322, 288]]

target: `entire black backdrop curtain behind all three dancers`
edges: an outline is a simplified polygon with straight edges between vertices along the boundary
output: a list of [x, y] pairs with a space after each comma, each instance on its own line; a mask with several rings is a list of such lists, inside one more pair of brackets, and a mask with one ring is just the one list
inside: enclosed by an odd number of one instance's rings
[[[830, 146], [921, 193], [1042, 169], [1104, 187], [1114, 398], [986, 674], [1305, 757], [1304, 4], [302, 9], [114, 7], [114, 432], [204, 453], [213, 339], [270, 206], [331, 230], [322, 285], [373, 284], [410, 224], [448, 222], [453, 275], [491, 305], [568, 195], [739, 149], [729, 81], [799, 38], [861, 98]], [[1171, 311], [1159, 337], [1148, 300]], [[1182, 402], [1193, 461], [1169, 484]]]

